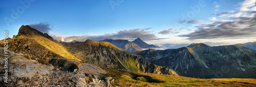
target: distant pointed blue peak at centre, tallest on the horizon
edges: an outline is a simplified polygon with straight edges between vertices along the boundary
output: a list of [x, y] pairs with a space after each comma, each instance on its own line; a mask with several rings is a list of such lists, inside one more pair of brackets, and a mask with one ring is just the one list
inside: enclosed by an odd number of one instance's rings
[[140, 38], [135, 39], [134, 41], [131, 41], [134, 44], [137, 44], [138, 46], [140, 46], [141, 48], [145, 48], [145, 49], [149, 49], [149, 48], [156, 48], [158, 46], [154, 46], [154, 45], [149, 45], [147, 43], [145, 43], [144, 41], [142, 41]]

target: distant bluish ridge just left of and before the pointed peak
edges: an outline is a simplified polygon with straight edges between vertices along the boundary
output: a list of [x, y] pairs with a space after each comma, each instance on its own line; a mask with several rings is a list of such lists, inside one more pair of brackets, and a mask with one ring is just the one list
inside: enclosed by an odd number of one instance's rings
[[125, 49], [125, 51], [137, 51], [137, 50], [141, 50], [142, 49], [137, 44], [134, 44], [134, 43], [132, 43], [132, 42], [130, 42], [128, 40], [105, 39], [105, 40], [102, 40], [102, 41], [109, 42], [109, 43], [117, 46], [118, 48]]

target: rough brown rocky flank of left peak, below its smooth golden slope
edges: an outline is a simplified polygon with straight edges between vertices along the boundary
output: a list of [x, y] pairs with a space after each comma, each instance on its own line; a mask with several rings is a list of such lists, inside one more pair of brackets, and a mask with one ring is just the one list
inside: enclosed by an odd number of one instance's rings
[[[1, 46], [3, 46], [2, 44], [3, 43], [1, 43]], [[9, 38], [8, 48], [10, 51], [26, 54], [42, 64], [49, 64], [49, 60], [52, 58], [64, 58], [40, 45], [37, 41], [24, 36], [15, 39]]]

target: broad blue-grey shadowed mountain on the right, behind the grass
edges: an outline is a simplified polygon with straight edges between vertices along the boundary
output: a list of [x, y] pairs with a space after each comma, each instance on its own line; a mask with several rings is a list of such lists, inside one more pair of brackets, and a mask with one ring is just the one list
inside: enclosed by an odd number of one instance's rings
[[179, 49], [144, 50], [147, 61], [199, 78], [256, 78], [256, 51], [247, 47], [191, 44]]

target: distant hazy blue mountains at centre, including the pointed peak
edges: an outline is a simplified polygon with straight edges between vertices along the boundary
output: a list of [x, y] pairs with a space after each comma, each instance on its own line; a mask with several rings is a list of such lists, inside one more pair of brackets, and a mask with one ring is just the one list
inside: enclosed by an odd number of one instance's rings
[[107, 38], [102, 41], [109, 42], [121, 49], [124, 49], [125, 51], [138, 51], [142, 49], [159, 48], [158, 46], [145, 43], [140, 38], [137, 38], [131, 42], [128, 40], [120, 40], [120, 39], [113, 40], [113, 39], [107, 39]]

